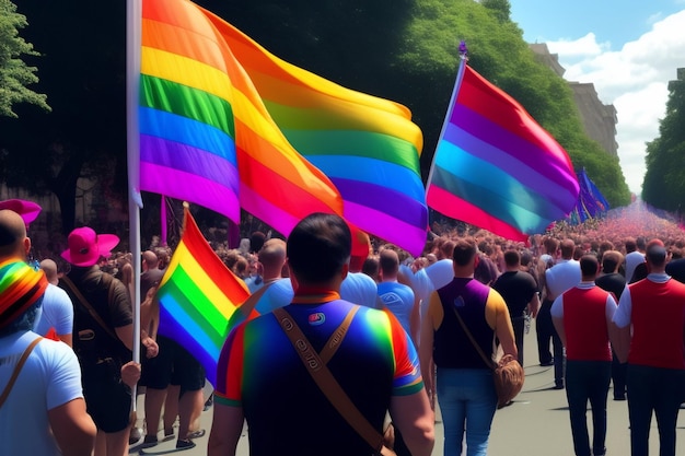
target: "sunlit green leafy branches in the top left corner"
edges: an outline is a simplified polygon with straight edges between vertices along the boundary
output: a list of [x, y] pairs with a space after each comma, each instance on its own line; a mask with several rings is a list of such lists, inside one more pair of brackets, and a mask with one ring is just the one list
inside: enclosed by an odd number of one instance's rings
[[26, 17], [16, 12], [14, 3], [0, 0], [0, 116], [16, 117], [12, 106], [18, 103], [50, 108], [46, 95], [27, 89], [38, 82], [37, 68], [27, 66], [21, 57], [39, 54], [19, 36], [19, 30], [26, 25]]

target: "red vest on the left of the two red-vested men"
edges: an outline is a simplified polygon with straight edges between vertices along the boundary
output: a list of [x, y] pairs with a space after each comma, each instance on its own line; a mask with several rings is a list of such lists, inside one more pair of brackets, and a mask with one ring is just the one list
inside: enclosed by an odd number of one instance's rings
[[606, 328], [606, 297], [599, 287], [572, 288], [564, 293], [566, 358], [573, 361], [611, 361]]

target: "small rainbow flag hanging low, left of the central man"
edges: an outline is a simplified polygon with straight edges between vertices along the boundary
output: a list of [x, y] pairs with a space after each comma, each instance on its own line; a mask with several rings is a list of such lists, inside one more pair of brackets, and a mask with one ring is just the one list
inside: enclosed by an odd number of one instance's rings
[[159, 334], [193, 353], [207, 371], [207, 379], [214, 385], [229, 319], [249, 296], [249, 291], [207, 243], [188, 209], [184, 224], [181, 243], [156, 294]]

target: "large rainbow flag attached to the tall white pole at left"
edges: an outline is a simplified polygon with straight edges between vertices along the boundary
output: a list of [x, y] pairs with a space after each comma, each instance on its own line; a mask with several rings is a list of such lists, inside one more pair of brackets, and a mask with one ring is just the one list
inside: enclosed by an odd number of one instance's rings
[[240, 222], [243, 208], [289, 234], [342, 214], [333, 183], [280, 131], [214, 25], [186, 0], [142, 2], [140, 189]]

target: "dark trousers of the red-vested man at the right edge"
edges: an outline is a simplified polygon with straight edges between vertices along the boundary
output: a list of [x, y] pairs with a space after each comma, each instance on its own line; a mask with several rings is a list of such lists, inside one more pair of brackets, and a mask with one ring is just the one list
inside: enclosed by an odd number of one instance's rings
[[652, 411], [659, 428], [659, 455], [675, 456], [675, 425], [683, 401], [685, 371], [628, 364], [630, 454], [649, 454]]

